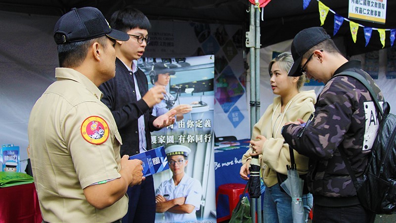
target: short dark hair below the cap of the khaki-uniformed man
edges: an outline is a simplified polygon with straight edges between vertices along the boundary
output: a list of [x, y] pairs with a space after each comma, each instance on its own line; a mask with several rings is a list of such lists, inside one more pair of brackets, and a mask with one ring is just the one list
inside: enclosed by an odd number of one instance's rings
[[73, 43], [58, 45], [58, 59], [60, 67], [77, 67], [82, 64], [87, 57], [88, 48], [95, 42], [106, 49], [107, 37], [101, 36], [92, 40], [85, 40]]

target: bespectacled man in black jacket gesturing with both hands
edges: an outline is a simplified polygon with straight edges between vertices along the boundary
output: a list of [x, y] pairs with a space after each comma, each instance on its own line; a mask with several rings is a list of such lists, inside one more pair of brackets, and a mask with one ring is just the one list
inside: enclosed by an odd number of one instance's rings
[[[126, 42], [116, 41], [116, 75], [100, 85], [102, 102], [111, 110], [122, 137], [121, 156], [132, 156], [151, 148], [151, 131], [175, 122], [175, 112], [158, 117], [151, 115], [152, 107], [161, 102], [165, 88], [156, 86], [148, 90], [145, 73], [137, 67], [137, 59], [145, 52], [149, 42], [151, 24], [139, 10], [125, 7], [111, 16], [111, 27], [129, 35]], [[141, 185], [129, 188], [128, 213], [124, 223], [153, 223], [155, 220], [155, 193], [152, 176]]]

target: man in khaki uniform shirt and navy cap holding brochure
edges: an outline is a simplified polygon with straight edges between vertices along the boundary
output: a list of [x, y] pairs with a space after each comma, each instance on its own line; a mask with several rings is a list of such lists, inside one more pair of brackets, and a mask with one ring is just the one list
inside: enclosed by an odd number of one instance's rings
[[121, 137], [98, 86], [115, 75], [115, 40], [93, 7], [74, 8], [55, 25], [60, 67], [36, 102], [28, 135], [45, 222], [117, 222], [128, 186], [144, 180], [142, 162], [120, 158]]

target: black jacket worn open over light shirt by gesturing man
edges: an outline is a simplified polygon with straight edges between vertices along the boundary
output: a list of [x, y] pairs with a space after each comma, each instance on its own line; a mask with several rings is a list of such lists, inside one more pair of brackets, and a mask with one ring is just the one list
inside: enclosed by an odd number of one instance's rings
[[[103, 93], [101, 101], [112, 112], [122, 138], [121, 157], [139, 153], [138, 118], [142, 114], [145, 115], [147, 150], [151, 149], [150, 132], [159, 130], [152, 125], [156, 118], [151, 115], [152, 109], [143, 99], [136, 100], [135, 83], [131, 74], [124, 63], [116, 58], [115, 77], [99, 86]], [[143, 98], [148, 91], [148, 82], [145, 73], [139, 68], [136, 71], [136, 79]]]

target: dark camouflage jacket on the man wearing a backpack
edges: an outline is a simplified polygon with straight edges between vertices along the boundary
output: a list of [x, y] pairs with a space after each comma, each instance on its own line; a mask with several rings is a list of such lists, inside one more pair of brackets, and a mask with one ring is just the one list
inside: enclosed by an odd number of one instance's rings
[[[336, 70], [360, 73], [374, 86], [378, 100], [383, 100], [381, 90], [374, 80], [359, 69], [360, 63], [349, 61]], [[370, 107], [372, 105], [373, 107]], [[285, 126], [282, 135], [299, 154], [309, 157], [307, 183], [315, 204], [326, 207], [344, 207], [359, 204], [356, 190], [339, 152], [343, 149], [358, 179], [367, 166], [371, 152], [368, 126], [377, 125], [366, 118], [374, 107], [367, 88], [357, 79], [336, 76], [330, 79], [319, 94], [315, 116], [306, 124]]]

